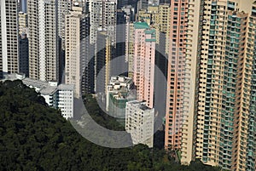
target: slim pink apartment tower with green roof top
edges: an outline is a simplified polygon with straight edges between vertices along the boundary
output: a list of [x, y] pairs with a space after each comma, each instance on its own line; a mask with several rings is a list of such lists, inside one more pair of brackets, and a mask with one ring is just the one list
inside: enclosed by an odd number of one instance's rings
[[136, 22], [133, 26], [133, 82], [137, 88], [137, 100], [145, 100], [146, 105], [153, 108], [155, 30], [146, 22]]

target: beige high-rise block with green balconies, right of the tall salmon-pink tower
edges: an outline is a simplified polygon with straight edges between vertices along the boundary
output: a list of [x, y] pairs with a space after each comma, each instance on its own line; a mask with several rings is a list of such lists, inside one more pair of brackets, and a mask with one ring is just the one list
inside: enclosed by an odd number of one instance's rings
[[255, 0], [190, 1], [182, 162], [255, 170]]

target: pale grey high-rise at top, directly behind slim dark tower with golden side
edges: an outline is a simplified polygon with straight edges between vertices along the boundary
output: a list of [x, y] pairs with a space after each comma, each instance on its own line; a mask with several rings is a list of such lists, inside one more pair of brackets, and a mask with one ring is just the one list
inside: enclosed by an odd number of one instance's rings
[[117, 0], [90, 0], [90, 43], [96, 43], [98, 29], [108, 31], [111, 43], [116, 43]]

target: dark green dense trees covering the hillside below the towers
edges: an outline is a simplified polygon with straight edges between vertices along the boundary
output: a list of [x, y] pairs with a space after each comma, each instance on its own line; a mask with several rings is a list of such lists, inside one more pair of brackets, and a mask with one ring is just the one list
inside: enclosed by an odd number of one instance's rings
[[180, 166], [165, 151], [145, 145], [109, 149], [92, 144], [20, 81], [0, 83], [0, 105], [0, 170], [218, 170], [201, 162]]

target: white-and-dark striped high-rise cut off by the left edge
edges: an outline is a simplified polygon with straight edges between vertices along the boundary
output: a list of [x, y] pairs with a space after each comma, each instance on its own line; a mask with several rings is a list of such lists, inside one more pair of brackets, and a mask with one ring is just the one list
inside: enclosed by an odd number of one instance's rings
[[3, 72], [19, 71], [18, 0], [1, 1], [0, 14], [0, 75], [2, 75]]

